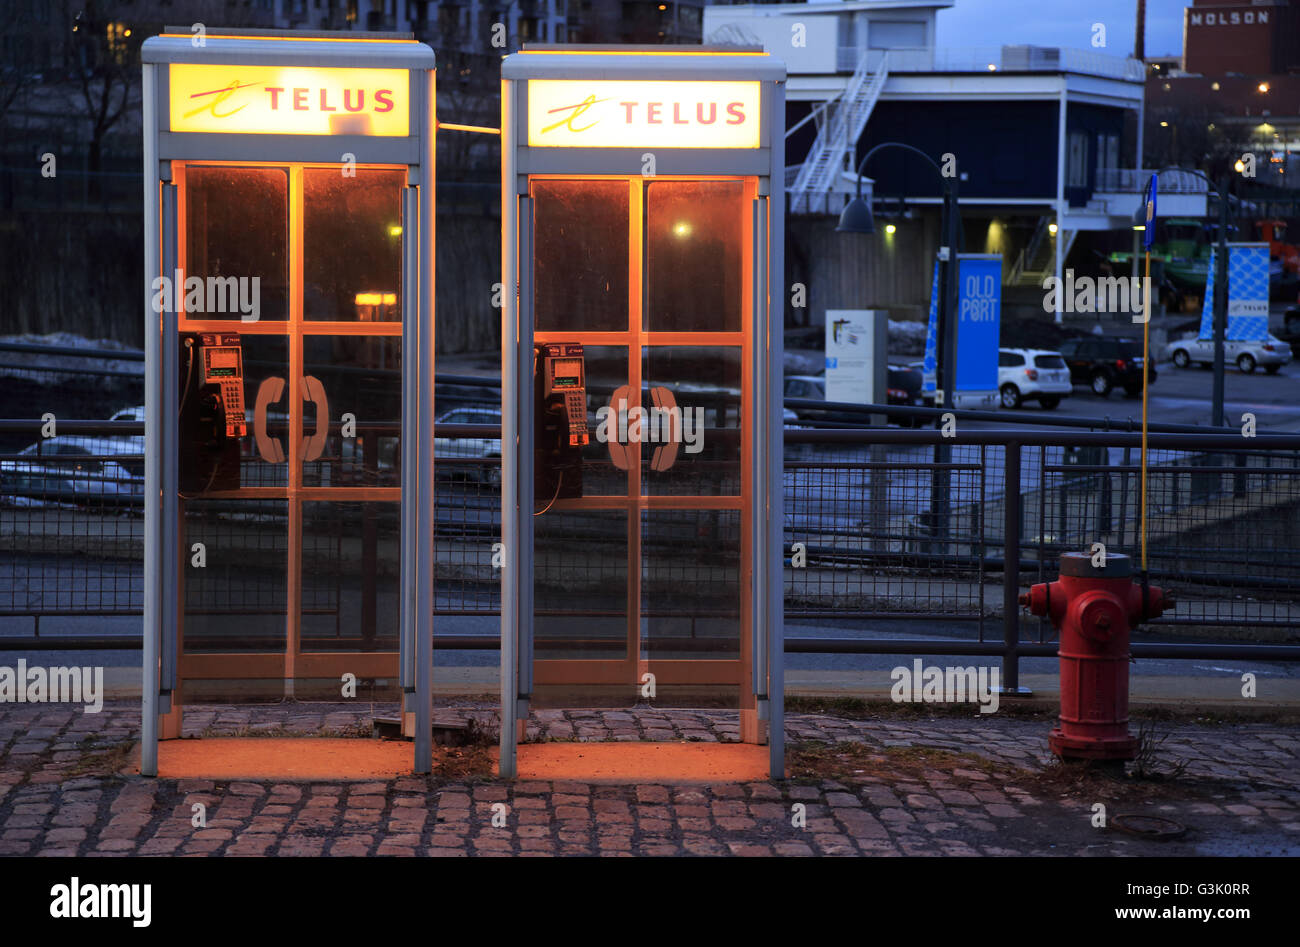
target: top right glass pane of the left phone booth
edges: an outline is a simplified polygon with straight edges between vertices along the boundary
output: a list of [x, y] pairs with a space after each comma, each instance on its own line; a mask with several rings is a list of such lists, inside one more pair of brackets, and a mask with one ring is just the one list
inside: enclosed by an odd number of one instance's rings
[[303, 170], [303, 319], [402, 319], [403, 170]]

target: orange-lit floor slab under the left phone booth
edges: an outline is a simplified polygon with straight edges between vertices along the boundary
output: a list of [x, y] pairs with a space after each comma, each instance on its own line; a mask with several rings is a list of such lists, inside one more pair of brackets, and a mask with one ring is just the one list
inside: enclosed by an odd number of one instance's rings
[[413, 766], [415, 744], [407, 740], [218, 736], [159, 744], [162, 779], [395, 779]]

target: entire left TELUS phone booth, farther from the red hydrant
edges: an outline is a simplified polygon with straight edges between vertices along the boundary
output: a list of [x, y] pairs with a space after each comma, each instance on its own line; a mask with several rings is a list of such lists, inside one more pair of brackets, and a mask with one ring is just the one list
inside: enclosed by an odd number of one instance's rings
[[168, 27], [142, 59], [142, 771], [185, 705], [400, 693], [426, 773], [433, 51]]

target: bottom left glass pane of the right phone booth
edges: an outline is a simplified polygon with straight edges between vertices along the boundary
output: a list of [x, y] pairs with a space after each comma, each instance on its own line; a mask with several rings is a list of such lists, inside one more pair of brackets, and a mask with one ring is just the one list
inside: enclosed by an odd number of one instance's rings
[[628, 514], [552, 510], [533, 528], [534, 658], [625, 658]]

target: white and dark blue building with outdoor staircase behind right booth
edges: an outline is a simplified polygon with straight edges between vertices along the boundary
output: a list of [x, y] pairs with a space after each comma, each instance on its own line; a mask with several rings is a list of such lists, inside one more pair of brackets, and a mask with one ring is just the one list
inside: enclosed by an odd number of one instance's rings
[[[836, 267], [858, 271], [852, 285], [836, 277], [846, 298], [814, 302], [811, 324], [820, 321], [819, 303], [928, 306], [942, 182], [902, 151], [881, 152], [866, 168], [878, 215], [901, 215], [896, 233], [878, 238], [864, 261], [858, 251], [823, 267], [837, 252], [823, 233], [852, 194], [858, 163], [881, 142], [911, 144], [935, 161], [956, 157], [966, 250], [1002, 254], [1010, 285], [1061, 276], [1080, 234], [1130, 239], [1149, 173], [1139, 169], [1143, 62], [1093, 48], [940, 47], [936, 18], [954, 3], [810, 0], [705, 10], [706, 43], [762, 43], [789, 68], [789, 225], [807, 250], [788, 258], [796, 265], [805, 259], [810, 278]], [[1162, 203], [1161, 215], [1204, 212], [1204, 193], [1191, 183], [1187, 190]], [[1096, 259], [1084, 243], [1079, 256]]]

